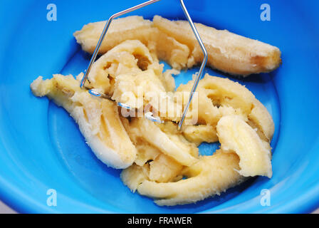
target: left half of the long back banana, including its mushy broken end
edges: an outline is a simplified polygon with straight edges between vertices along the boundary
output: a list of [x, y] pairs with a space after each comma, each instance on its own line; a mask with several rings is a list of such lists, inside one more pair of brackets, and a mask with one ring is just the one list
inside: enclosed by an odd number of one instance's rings
[[[73, 33], [84, 51], [94, 52], [105, 23], [106, 21], [90, 23]], [[158, 28], [152, 26], [152, 21], [145, 20], [142, 16], [127, 16], [113, 20], [99, 53], [106, 53], [127, 40], [138, 40], [144, 43], [155, 57], [167, 61], [173, 68], [180, 70], [187, 67], [189, 48], [173, 37], [160, 32]]]

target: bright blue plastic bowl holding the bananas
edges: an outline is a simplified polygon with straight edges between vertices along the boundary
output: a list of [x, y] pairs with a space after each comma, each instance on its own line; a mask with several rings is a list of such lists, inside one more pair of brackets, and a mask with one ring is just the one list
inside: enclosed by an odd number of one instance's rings
[[[52, 1], [4, 1], [0, 6], [0, 198], [18, 212], [277, 213], [311, 212], [319, 204], [319, 1], [271, 1], [271, 21], [261, 21], [263, 1], [185, 0], [194, 21], [226, 28], [278, 46], [278, 70], [236, 79], [266, 105], [276, 125], [273, 177], [252, 178], [220, 197], [197, 204], [158, 207], [133, 194], [85, 144], [68, 113], [29, 88], [39, 75], [76, 75], [89, 56], [73, 32], [83, 24], [142, 1], [53, 1], [57, 21], [47, 21]], [[134, 14], [184, 19], [178, 1], [162, 0]], [[177, 76], [186, 83], [196, 69]], [[211, 75], [220, 73], [206, 69]], [[226, 76], [226, 75], [224, 75]], [[216, 144], [202, 145], [203, 154]], [[48, 206], [48, 190], [57, 205]], [[271, 193], [262, 206], [261, 190]]]

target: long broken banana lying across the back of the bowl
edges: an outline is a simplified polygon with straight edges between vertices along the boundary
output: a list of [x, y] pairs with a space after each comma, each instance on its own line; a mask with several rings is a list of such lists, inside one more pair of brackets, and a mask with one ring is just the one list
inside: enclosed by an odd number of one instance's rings
[[[90, 23], [73, 34], [84, 51], [93, 53], [105, 21]], [[236, 35], [226, 30], [196, 24], [208, 52], [208, 65], [233, 75], [270, 72], [281, 64], [281, 51], [267, 43]], [[139, 40], [153, 56], [167, 61], [173, 68], [191, 68], [201, 63], [202, 49], [187, 21], [169, 21], [155, 16], [153, 21], [142, 16], [113, 20], [99, 53], [106, 53], [127, 40]]]

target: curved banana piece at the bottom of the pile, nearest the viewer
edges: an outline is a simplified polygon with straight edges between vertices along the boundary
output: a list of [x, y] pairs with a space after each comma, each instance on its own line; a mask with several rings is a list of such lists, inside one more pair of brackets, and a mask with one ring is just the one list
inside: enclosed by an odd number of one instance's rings
[[187, 167], [183, 171], [187, 179], [167, 183], [145, 179], [137, 186], [137, 191], [140, 195], [156, 198], [155, 203], [160, 206], [194, 203], [238, 185], [244, 177], [236, 172], [237, 169], [239, 157], [236, 154], [216, 151]]

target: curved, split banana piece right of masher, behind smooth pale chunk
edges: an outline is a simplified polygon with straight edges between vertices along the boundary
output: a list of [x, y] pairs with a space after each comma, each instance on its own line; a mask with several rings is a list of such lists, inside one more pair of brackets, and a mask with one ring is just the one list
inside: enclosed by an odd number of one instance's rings
[[[186, 85], [179, 86], [177, 91], [186, 93], [191, 90], [193, 83], [193, 81], [189, 81]], [[198, 108], [193, 110], [191, 106], [189, 113], [198, 112], [198, 123], [200, 125], [210, 125], [212, 128], [216, 128], [217, 123], [223, 116], [239, 115], [246, 122], [251, 121], [258, 128], [258, 133], [261, 133], [263, 138], [271, 142], [274, 132], [273, 119], [266, 107], [245, 86], [228, 78], [219, 78], [206, 74], [199, 81], [197, 92], [199, 94]], [[196, 128], [199, 127], [187, 126], [182, 130], [191, 142], [203, 142], [207, 137], [200, 140], [200, 138], [195, 138], [194, 135], [189, 136], [189, 130], [195, 130]], [[216, 131], [211, 130], [210, 132], [209, 139], [216, 139]]]

